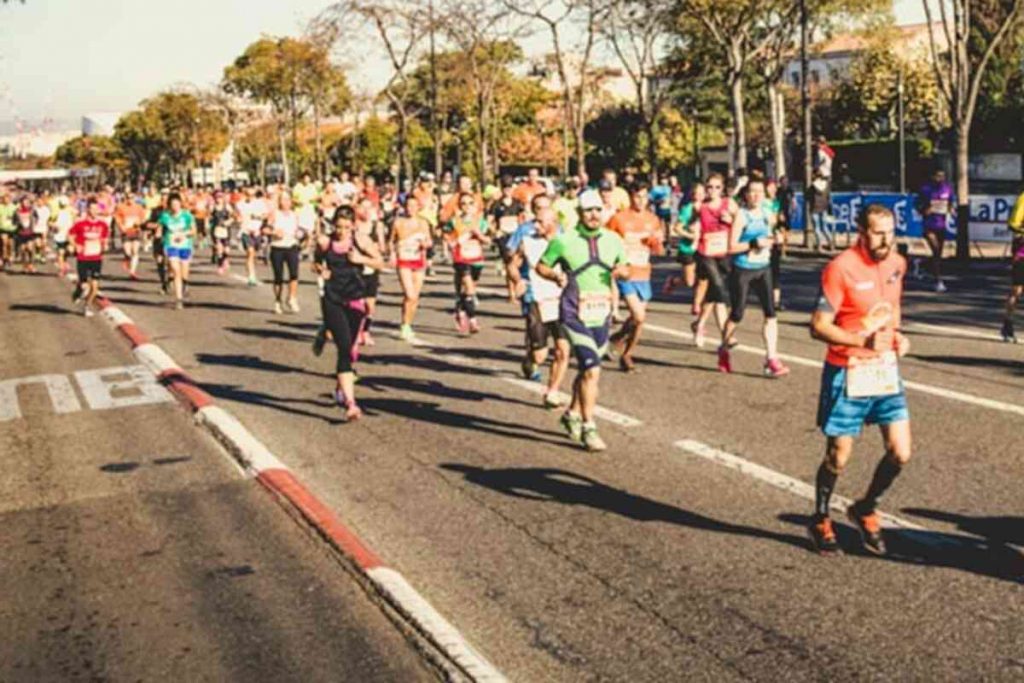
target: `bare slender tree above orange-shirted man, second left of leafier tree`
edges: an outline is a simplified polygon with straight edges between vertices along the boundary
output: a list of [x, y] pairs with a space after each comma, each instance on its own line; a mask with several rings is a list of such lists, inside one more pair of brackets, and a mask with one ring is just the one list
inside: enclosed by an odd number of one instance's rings
[[676, 3], [673, 0], [621, 0], [611, 5], [602, 35], [618, 57], [636, 91], [635, 110], [643, 130], [647, 169], [658, 168], [656, 123], [668, 99], [663, 52], [672, 35]]

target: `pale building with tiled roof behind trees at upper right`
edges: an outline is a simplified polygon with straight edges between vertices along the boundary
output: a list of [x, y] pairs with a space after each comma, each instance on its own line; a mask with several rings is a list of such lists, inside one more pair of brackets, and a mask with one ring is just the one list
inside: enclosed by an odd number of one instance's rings
[[[931, 60], [931, 38], [928, 24], [908, 24], [894, 27], [896, 36], [893, 49], [905, 58], [925, 58]], [[948, 47], [945, 32], [941, 23], [931, 25], [936, 37], [939, 51]], [[849, 73], [850, 65], [867, 48], [871, 36], [865, 33], [846, 33], [835, 36], [811, 47], [808, 54], [807, 74], [811, 87], [825, 87], [842, 80]], [[795, 88], [800, 87], [800, 56], [786, 65], [785, 81]]]

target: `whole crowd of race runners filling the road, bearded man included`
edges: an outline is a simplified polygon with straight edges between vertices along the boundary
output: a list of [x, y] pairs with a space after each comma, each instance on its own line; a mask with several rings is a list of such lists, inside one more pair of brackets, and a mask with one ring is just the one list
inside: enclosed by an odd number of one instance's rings
[[[921, 198], [926, 236], [933, 247], [938, 242], [941, 255], [951, 190], [936, 174]], [[776, 313], [784, 301], [780, 273], [795, 211], [785, 179], [757, 172], [729, 181], [713, 173], [685, 191], [674, 178], [648, 184], [626, 175], [620, 181], [613, 171], [596, 182], [570, 177], [556, 187], [536, 169], [486, 187], [467, 176], [422, 173], [403, 187], [342, 174], [326, 183], [306, 175], [291, 187], [150, 185], [37, 195], [0, 188], [0, 256], [5, 270], [36, 272], [45, 265], [73, 280], [73, 299], [85, 315], [94, 310], [112, 248], [131, 279], [139, 278], [142, 259], [152, 259], [160, 291], [177, 309], [187, 306], [190, 265], [203, 259], [220, 276], [251, 287], [268, 266], [268, 309], [297, 314], [306, 267], [321, 301], [319, 311], [309, 313], [322, 321], [313, 352], [335, 346], [335, 398], [348, 420], [362, 415], [354, 364], [360, 348], [374, 345], [381, 274], [396, 273], [398, 337], [416, 341], [425, 279], [441, 263], [451, 266], [453, 325], [469, 336], [481, 330], [477, 285], [494, 261], [522, 316], [523, 376], [544, 382], [543, 404], [562, 412], [569, 438], [599, 452], [607, 447], [595, 422], [602, 364], [610, 358], [621, 371], [636, 372], [657, 257], [669, 255], [679, 267], [664, 295], [692, 291], [696, 346], [707, 343], [714, 319], [721, 372], [732, 372], [730, 349], [752, 293], [763, 313], [764, 375], [790, 372], [779, 355]], [[1017, 237], [1001, 333], [1015, 341], [1013, 314], [1024, 294], [1024, 195], [1010, 227]], [[885, 552], [876, 506], [910, 457], [898, 362], [909, 346], [900, 333], [907, 262], [897, 251], [895, 228], [889, 209], [865, 207], [858, 239], [821, 274], [811, 330], [827, 344], [818, 414], [826, 455], [810, 535], [823, 553], [839, 549], [828, 517], [831, 492], [863, 425], [879, 425], [886, 444], [865, 496], [849, 511], [872, 552]], [[835, 248], [833, 241], [827, 246]], [[932, 272], [944, 291], [940, 261], [933, 259]], [[575, 376], [563, 394], [573, 358]]]

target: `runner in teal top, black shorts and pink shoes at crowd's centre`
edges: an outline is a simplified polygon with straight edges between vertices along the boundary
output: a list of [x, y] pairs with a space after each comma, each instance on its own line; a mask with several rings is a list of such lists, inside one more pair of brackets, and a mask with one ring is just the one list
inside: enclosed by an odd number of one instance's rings
[[455, 264], [455, 324], [462, 334], [476, 334], [476, 283], [483, 272], [483, 249], [490, 244], [487, 221], [476, 213], [472, 193], [459, 195], [459, 214], [444, 225], [444, 240]]

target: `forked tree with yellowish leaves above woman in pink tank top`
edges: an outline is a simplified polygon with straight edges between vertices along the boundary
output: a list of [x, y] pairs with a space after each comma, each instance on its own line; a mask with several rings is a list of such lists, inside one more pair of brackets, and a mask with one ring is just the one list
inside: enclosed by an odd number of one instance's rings
[[745, 168], [748, 67], [792, 31], [799, 4], [787, 0], [690, 0], [681, 9], [681, 36], [688, 45], [706, 42], [724, 66], [732, 114], [733, 168]]

